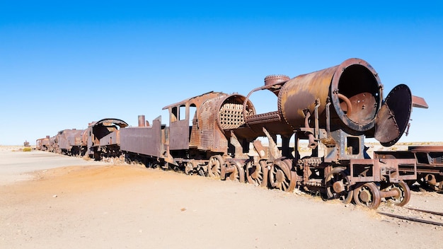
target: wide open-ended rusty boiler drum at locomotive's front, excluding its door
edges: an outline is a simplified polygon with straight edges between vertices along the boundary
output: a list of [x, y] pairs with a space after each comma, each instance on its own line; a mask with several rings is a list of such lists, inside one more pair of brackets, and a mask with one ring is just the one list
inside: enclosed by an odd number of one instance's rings
[[381, 106], [379, 76], [362, 59], [347, 59], [311, 74], [290, 79], [282, 86], [278, 107], [284, 120], [294, 129], [305, 126], [306, 112], [313, 113], [319, 100], [319, 126], [326, 126], [326, 104], [330, 105], [331, 129], [346, 129], [362, 134], [374, 127]]

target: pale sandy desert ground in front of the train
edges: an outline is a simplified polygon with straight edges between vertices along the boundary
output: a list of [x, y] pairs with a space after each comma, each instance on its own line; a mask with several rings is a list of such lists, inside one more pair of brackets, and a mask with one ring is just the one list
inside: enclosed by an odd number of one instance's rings
[[[0, 248], [443, 248], [441, 226], [296, 192], [41, 151], [0, 156]], [[443, 195], [413, 192], [408, 206], [443, 212]]]

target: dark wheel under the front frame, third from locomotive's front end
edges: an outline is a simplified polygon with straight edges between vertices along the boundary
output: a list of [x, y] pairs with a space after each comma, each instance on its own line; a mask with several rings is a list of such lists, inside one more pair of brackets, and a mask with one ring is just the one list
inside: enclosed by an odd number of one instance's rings
[[329, 199], [340, 199], [343, 203], [348, 204], [352, 201], [354, 191], [351, 190], [349, 175], [346, 168], [338, 167], [330, 170], [325, 180], [326, 195]]

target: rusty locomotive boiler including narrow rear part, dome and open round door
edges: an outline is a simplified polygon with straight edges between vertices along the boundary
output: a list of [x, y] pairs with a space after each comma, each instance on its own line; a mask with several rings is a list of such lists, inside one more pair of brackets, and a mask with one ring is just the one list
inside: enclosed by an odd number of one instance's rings
[[293, 79], [268, 76], [265, 86], [251, 93], [258, 90], [278, 96], [277, 110], [258, 115], [243, 111], [248, 127], [255, 132], [265, 127], [283, 136], [303, 131], [310, 140], [312, 136], [323, 139], [323, 144], [337, 143], [330, 132], [345, 132], [375, 137], [384, 146], [391, 146], [408, 127], [412, 107], [427, 108], [424, 100], [412, 96], [405, 85], [393, 88], [384, 100], [378, 74], [368, 62], [356, 58]]

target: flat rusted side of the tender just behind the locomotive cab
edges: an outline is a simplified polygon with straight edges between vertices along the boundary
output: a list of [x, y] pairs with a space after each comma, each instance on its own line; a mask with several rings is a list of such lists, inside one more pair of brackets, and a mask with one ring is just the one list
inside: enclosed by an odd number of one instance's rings
[[161, 134], [159, 119], [149, 127], [126, 127], [120, 130], [120, 148], [122, 151], [161, 158]]

